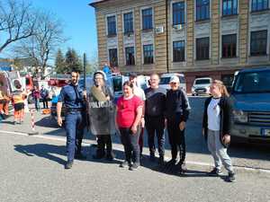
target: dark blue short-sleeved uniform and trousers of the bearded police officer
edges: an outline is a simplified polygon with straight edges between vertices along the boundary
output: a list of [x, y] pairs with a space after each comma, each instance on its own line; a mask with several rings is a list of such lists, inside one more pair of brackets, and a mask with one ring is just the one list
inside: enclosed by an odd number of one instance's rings
[[58, 102], [66, 107], [67, 162], [72, 162], [75, 154], [81, 154], [85, 123], [83, 121], [83, 90], [72, 83], [61, 89]]

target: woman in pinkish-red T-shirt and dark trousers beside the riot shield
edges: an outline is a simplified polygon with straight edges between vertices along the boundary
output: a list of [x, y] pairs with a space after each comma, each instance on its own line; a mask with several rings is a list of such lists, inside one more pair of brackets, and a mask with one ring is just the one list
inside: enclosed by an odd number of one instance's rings
[[[129, 165], [130, 171], [139, 167], [139, 132], [143, 102], [133, 94], [133, 84], [123, 83], [123, 96], [117, 101], [116, 124], [121, 133], [126, 160], [120, 167]], [[132, 163], [131, 160], [134, 162]]]

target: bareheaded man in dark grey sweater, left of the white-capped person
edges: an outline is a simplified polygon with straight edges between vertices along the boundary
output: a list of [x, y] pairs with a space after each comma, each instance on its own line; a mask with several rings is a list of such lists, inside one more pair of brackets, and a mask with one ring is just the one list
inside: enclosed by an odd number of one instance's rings
[[157, 133], [157, 144], [159, 153], [159, 164], [164, 162], [164, 144], [165, 144], [165, 104], [166, 89], [158, 86], [159, 76], [152, 74], [150, 76], [150, 87], [145, 90], [145, 121], [148, 130], [148, 146], [150, 160], [155, 161], [155, 133]]

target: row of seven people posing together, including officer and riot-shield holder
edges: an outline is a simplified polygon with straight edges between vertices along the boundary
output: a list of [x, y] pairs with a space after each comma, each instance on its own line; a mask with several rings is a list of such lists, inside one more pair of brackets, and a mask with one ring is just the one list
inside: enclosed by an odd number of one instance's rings
[[[143, 148], [143, 128], [148, 132], [148, 148], [151, 161], [155, 161], [157, 136], [158, 163], [164, 163], [165, 128], [171, 145], [171, 160], [166, 162], [179, 168], [185, 166], [186, 121], [191, 110], [186, 93], [179, 87], [177, 76], [170, 79], [170, 90], [158, 86], [159, 76], [150, 75], [150, 86], [143, 91], [136, 82], [136, 74], [130, 74], [130, 80], [123, 83], [123, 95], [113, 104], [113, 94], [106, 85], [103, 71], [94, 73], [94, 85], [89, 93], [78, 86], [79, 73], [71, 73], [71, 83], [64, 86], [58, 99], [58, 125], [62, 126], [61, 109], [66, 105], [67, 163], [72, 168], [74, 158], [85, 159], [81, 143], [86, 122], [91, 133], [97, 138], [95, 159], [114, 158], [112, 153], [112, 134], [118, 132], [124, 147], [125, 159], [120, 167], [136, 170], [140, 165]], [[86, 110], [85, 110], [86, 109]], [[229, 171], [228, 180], [235, 180], [231, 160], [227, 154], [230, 132], [231, 104], [226, 87], [219, 80], [211, 83], [211, 97], [205, 101], [202, 120], [202, 134], [214, 159], [215, 167], [209, 174], [219, 176], [221, 165]], [[84, 121], [88, 120], [88, 121]], [[177, 154], [179, 161], [177, 162]]]

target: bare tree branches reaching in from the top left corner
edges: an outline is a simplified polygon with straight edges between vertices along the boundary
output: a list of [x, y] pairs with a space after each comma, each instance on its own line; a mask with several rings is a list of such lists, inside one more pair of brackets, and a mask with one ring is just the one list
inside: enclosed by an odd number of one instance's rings
[[34, 34], [37, 16], [32, 11], [24, 1], [0, 1], [0, 53], [14, 41]]

